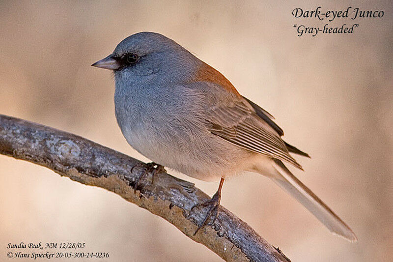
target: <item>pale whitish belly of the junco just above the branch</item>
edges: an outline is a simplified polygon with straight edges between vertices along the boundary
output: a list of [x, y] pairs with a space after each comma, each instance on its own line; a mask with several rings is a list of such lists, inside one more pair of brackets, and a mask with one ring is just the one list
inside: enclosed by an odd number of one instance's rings
[[153, 162], [204, 181], [242, 173], [249, 166], [245, 160], [253, 154], [207, 132], [209, 143], [184, 140], [171, 132], [160, 132], [158, 137], [156, 132], [135, 126], [123, 127], [122, 132], [134, 149]]

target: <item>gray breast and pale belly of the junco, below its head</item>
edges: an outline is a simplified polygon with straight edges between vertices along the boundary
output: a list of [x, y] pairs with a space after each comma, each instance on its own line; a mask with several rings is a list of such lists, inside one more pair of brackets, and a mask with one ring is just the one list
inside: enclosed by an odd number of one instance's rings
[[225, 96], [215, 95], [207, 83], [190, 84], [192, 75], [170, 85], [160, 77], [152, 73], [123, 79], [115, 73], [115, 115], [127, 142], [154, 162], [201, 180], [243, 171], [245, 166], [238, 163], [256, 154], [211, 134], [205, 122], [210, 110], [206, 102], [213, 106]]

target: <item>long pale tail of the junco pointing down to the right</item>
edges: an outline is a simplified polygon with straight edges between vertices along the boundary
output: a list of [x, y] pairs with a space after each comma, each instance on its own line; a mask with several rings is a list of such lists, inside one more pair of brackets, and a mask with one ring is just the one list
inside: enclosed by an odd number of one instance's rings
[[332, 233], [351, 242], [357, 241], [355, 233], [307, 186], [297, 179], [280, 160], [274, 160], [273, 166], [281, 175], [271, 177], [275, 183], [309, 209]]

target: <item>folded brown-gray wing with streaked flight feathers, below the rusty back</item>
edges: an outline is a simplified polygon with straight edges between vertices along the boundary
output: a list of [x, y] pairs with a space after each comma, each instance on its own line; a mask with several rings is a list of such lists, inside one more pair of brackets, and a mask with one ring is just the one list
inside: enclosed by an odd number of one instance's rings
[[250, 151], [302, 166], [289, 155], [280, 134], [239, 97], [233, 103], [218, 103], [205, 115], [208, 130], [228, 142]]

